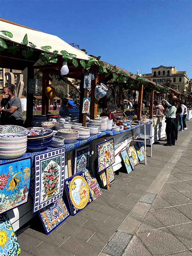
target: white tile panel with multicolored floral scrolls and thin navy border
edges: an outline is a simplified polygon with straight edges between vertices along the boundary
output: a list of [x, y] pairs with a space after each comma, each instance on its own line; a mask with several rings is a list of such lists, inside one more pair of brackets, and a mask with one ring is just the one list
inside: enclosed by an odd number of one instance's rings
[[96, 145], [98, 172], [101, 172], [115, 163], [114, 140], [106, 140]]

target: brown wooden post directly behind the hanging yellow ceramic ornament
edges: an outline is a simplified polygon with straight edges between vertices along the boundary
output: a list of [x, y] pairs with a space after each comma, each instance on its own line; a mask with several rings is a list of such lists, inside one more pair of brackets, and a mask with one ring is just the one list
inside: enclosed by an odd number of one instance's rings
[[46, 87], [49, 86], [49, 73], [44, 71], [42, 76], [42, 109], [41, 114], [46, 115], [49, 111], [49, 99], [46, 97]]

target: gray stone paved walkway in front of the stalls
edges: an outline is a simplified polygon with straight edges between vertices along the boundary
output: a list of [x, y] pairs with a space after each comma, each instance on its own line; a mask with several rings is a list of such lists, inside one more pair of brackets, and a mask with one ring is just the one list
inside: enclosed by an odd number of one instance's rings
[[147, 165], [120, 172], [109, 190], [48, 236], [37, 216], [18, 236], [21, 255], [192, 255], [186, 254], [192, 248], [192, 122], [187, 125], [176, 146], [158, 141]]

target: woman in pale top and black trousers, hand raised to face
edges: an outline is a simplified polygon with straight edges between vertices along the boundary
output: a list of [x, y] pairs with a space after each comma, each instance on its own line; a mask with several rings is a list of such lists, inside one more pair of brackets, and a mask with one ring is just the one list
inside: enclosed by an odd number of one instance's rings
[[172, 98], [171, 104], [167, 100], [162, 100], [167, 106], [167, 110], [165, 111], [166, 115], [166, 128], [165, 132], [167, 135], [167, 143], [165, 146], [174, 146], [175, 145], [175, 119], [176, 119], [176, 111], [178, 107], [177, 99]]

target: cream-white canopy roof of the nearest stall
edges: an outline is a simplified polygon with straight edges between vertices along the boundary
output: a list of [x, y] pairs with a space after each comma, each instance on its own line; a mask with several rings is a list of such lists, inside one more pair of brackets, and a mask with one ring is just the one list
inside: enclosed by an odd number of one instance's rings
[[[58, 36], [47, 34], [32, 28], [27, 28], [3, 19], [0, 19], [0, 31], [1, 30], [6, 30], [11, 32], [13, 34], [13, 37], [12, 38], [8, 37], [7, 39], [10, 39], [12, 42], [15, 42], [17, 44], [21, 44], [25, 34], [27, 34], [28, 42], [32, 42], [33, 44], [36, 45], [35, 48], [31, 47], [32, 49], [38, 49], [38, 50], [44, 51], [41, 49], [41, 47], [49, 45], [52, 47], [52, 49], [47, 52], [53, 52], [54, 50], [57, 50], [59, 54], [60, 51], [64, 50], [64, 51], [67, 51], [68, 53], [75, 54], [77, 56], [76, 57], [77, 59], [82, 59], [82, 60], [89, 59], [89, 55], [86, 55], [84, 52], [74, 48], [70, 44], [60, 39]], [[0, 33], [0, 37], [5, 38], [5, 36], [2, 33]], [[28, 47], [30, 47], [29, 44], [28, 44]]]

